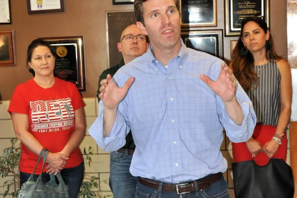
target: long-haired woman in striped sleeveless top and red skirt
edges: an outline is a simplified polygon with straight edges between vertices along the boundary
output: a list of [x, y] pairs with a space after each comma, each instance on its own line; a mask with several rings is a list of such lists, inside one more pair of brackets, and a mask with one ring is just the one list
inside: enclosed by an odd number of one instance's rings
[[257, 125], [247, 143], [232, 143], [235, 162], [259, 165], [269, 158], [287, 158], [286, 129], [291, 115], [292, 80], [289, 63], [277, 55], [267, 24], [260, 17], [242, 21], [241, 36], [229, 67], [252, 101]]

